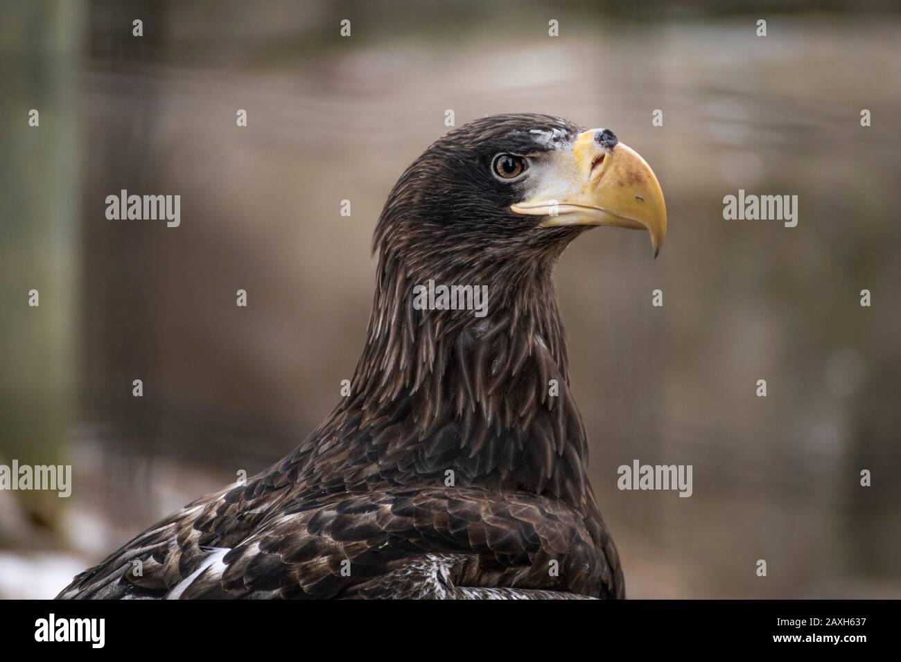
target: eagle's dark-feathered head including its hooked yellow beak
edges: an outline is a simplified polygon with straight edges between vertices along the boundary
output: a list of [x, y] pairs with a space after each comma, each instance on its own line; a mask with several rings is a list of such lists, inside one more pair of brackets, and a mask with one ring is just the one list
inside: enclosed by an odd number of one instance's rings
[[449, 132], [406, 169], [388, 196], [374, 249], [383, 258], [404, 256], [414, 278], [518, 281], [596, 225], [648, 231], [656, 257], [667, 213], [645, 160], [609, 129], [542, 114], [495, 115]]

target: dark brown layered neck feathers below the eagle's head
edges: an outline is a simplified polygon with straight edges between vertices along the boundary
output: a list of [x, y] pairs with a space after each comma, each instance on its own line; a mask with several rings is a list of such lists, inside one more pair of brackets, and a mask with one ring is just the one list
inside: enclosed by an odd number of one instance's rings
[[[447, 264], [451, 265], [452, 260]], [[459, 283], [445, 273], [436, 282]], [[552, 264], [486, 265], [487, 315], [417, 310], [409, 270], [383, 254], [369, 340], [320, 435], [350, 440], [377, 479], [480, 485], [562, 499], [585, 511], [587, 440], [569, 394]], [[478, 274], [478, 268], [468, 268]], [[452, 472], [452, 473], [451, 473]]]

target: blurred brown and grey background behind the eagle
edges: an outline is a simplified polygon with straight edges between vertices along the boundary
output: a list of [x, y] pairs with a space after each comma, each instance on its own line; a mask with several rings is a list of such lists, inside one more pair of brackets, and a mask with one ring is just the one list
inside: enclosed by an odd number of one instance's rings
[[[660, 178], [660, 258], [603, 229], [557, 271], [629, 595], [901, 596], [901, 14], [638, 5], [0, 3], [0, 464], [74, 472], [0, 492], [0, 597], [56, 594], [331, 412], [378, 213], [449, 109], [609, 127]], [[180, 227], [107, 221], [123, 188], [181, 195]], [[797, 195], [797, 227], [724, 221], [740, 188]], [[620, 492], [634, 458], [693, 465], [693, 496]]]

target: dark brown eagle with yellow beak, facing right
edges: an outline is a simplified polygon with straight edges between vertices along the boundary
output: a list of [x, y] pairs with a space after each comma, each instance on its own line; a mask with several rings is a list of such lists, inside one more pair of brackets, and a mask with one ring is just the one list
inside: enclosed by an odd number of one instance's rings
[[[59, 598], [623, 598], [552, 280], [597, 225], [648, 231], [655, 257], [666, 235], [657, 177], [613, 131], [504, 114], [432, 143], [378, 219], [349, 394]], [[459, 296], [416, 304], [426, 286]]]

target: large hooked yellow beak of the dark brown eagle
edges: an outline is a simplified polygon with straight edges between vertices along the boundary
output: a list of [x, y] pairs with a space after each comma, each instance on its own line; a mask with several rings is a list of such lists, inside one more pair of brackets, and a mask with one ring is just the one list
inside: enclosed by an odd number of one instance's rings
[[651, 234], [654, 257], [667, 234], [667, 207], [654, 171], [632, 148], [605, 147], [596, 130], [581, 133], [556, 177], [531, 200], [511, 205], [514, 213], [546, 216], [540, 227], [614, 225]]

